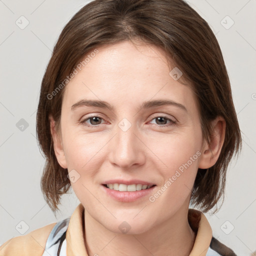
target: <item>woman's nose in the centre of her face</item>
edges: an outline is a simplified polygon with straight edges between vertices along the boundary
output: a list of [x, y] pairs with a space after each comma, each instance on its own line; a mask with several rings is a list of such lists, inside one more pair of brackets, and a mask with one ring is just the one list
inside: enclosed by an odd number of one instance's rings
[[145, 145], [132, 125], [128, 130], [117, 126], [116, 134], [111, 139], [109, 160], [120, 168], [132, 168], [142, 165], [145, 161]]

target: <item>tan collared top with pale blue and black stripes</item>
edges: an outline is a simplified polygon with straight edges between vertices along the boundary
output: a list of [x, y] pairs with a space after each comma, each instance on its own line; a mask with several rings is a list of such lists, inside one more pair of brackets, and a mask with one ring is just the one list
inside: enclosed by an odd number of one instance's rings
[[[88, 256], [83, 216], [84, 207], [80, 203], [70, 217], [7, 240], [0, 246], [0, 256]], [[189, 256], [236, 256], [212, 237], [211, 227], [202, 212], [188, 209], [188, 222], [196, 234]]]

